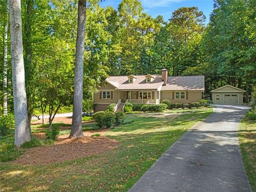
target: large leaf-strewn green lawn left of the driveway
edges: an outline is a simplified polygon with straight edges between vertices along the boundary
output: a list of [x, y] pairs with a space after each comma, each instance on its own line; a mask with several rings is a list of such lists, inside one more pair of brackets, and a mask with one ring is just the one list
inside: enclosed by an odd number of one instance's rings
[[[211, 113], [212, 108], [197, 109], [174, 119], [126, 115], [124, 125], [104, 133], [119, 141], [116, 149], [65, 163], [0, 163], [1, 190], [127, 191], [182, 134]], [[95, 129], [94, 124], [83, 127]]]

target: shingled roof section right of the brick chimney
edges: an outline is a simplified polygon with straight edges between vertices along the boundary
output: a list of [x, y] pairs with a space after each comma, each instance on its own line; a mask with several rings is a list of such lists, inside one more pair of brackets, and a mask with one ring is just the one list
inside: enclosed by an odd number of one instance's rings
[[204, 75], [169, 76], [166, 85], [161, 90], [204, 91]]

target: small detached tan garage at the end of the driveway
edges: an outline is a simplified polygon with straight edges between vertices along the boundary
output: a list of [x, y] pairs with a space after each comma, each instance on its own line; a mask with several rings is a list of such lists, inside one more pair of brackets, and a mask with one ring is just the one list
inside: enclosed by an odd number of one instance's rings
[[243, 105], [244, 90], [231, 85], [225, 85], [212, 90], [213, 104], [216, 105]]

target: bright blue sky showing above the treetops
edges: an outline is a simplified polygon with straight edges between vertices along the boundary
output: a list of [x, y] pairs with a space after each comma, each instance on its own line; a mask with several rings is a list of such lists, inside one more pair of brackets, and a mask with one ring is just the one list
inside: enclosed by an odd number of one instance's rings
[[[145, 12], [153, 18], [163, 15], [164, 20], [171, 18], [172, 12], [183, 6], [197, 6], [206, 16], [206, 23], [209, 22], [213, 10], [213, 0], [139, 0]], [[105, 0], [100, 3], [102, 7], [113, 6], [115, 9], [121, 0]]]

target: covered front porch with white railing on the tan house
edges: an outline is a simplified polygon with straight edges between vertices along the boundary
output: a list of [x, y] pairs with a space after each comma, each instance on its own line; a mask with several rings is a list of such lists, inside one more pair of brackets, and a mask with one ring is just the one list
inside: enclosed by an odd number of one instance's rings
[[119, 91], [119, 99], [122, 102], [133, 104], [159, 104], [160, 92], [157, 90], [130, 90]]

